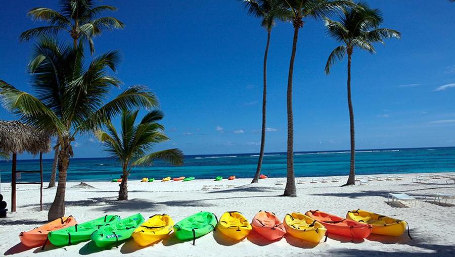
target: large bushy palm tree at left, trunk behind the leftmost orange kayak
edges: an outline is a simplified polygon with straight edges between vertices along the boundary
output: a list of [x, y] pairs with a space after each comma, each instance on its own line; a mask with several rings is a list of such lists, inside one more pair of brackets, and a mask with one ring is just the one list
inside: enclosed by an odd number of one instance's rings
[[25, 123], [51, 131], [57, 137], [59, 183], [49, 220], [65, 214], [66, 177], [74, 137], [95, 130], [125, 108], [157, 105], [156, 96], [143, 86], [131, 86], [105, 103], [110, 89], [121, 84], [108, 74], [108, 69], [116, 71], [119, 54], [108, 52], [85, 65], [82, 45], [79, 42], [74, 49], [50, 38], [35, 44], [28, 66], [35, 96], [0, 80], [3, 106]]

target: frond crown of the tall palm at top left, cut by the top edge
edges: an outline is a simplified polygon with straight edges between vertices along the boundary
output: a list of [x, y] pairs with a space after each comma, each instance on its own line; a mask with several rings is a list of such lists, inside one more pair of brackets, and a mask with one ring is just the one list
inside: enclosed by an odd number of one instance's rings
[[49, 25], [29, 29], [20, 36], [21, 40], [42, 35], [57, 35], [63, 30], [73, 39], [73, 47], [82, 39], [90, 46], [93, 55], [95, 46], [93, 37], [100, 35], [103, 29], [123, 28], [124, 24], [114, 17], [99, 17], [105, 11], [116, 11], [117, 8], [107, 5], [95, 6], [94, 0], [60, 0], [60, 12], [45, 7], [30, 10], [27, 15], [34, 21], [47, 21]]

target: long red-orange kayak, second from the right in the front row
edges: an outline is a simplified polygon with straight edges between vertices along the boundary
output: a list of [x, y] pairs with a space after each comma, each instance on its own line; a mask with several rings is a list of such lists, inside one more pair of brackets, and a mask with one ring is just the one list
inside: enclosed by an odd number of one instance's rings
[[343, 219], [318, 210], [308, 211], [305, 215], [321, 222], [327, 228], [329, 234], [352, 239], [363, 239], [368, 237], [372, 231], [372, 226], [369, 224]]

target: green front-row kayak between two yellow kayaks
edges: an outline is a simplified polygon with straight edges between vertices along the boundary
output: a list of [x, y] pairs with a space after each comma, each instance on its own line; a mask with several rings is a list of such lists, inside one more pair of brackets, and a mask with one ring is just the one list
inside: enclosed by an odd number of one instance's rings
[[174, 233], [182, 241], [193, 239], [194, 244], [196, 238], [214, 230], [217, 223], [213, 213], [200, 212], [177, 222], [174, 225]]

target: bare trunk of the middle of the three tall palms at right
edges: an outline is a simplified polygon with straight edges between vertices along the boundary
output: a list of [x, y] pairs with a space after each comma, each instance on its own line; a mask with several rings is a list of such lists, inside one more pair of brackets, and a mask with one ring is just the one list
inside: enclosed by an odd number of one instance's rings
[[292, 54], [289, 64], [288, 91], [286, 94], [286, 106], [288, 110], [288, 155], [287, 155], [287, 179], [284, 196], [297, 196], [294, 176], [294, 117], [292, 114], [292, 75], [294, 73], [294, 59], [297, 49], [299, 25], [294, 23], [294, 39], [292, 41]]

